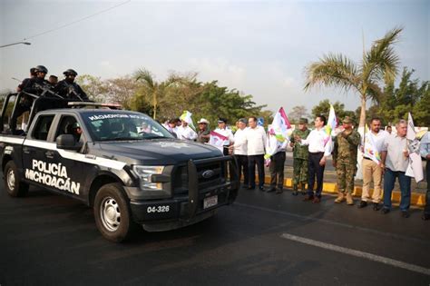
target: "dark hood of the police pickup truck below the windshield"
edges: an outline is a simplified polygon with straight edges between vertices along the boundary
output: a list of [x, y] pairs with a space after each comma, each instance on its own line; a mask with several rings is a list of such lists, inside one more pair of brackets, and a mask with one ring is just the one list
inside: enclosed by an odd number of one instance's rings
[[177, 164], [222, 156], [219, 149], [208, 144], [177, 139], [100, 143], [100, 150], [103, 157], [144, 164]]

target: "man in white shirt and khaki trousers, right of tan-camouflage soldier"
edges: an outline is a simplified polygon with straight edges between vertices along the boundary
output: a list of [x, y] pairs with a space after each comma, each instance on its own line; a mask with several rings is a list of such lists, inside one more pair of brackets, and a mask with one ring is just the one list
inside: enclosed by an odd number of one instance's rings
[[[370, 147], [375, 148], [373, 152], [382, 153], [383, 145], [386, 140], [386, 136], [389, 134], [385, 130], [381, 130], [381, 120], [379, 118], [372, 118], [370, 121], [370, 130], [366, 133], [362, 152], [365, 153], [365, 149]], [[373, 143], [372, 146], [366, 146], [366, 144]], [[363, 170], [363, 192], [361, 193], [361, 202], [358, 204], [358, 208], [364, 208], [367, 206], [367, 200], [370, 199], [369, 189], [370, 182], [374, 184], [374, 191], [372, 194], [372, 202], [374, 211], [379, 211], [380, 206], [379, 202], [381, 201], [381, 182], [382, 182], [382, 173], [384, 172], [384, 164], [376, 163], [372, 160], [372, 158], [366, 157], [366, 154], [363, 155], [363, 161], [361, 163]]]

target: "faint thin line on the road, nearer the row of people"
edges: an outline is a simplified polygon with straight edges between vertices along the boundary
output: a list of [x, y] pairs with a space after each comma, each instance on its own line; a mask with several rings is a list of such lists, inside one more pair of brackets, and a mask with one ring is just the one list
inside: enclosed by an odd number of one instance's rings
[[400, 240], [404, 240], [404, 241], [408, 241], [408, 242], [419, 242], [419, 243], [423, 243], [423, 244], [430, 244], [429, 241], [426, 240], [422, 240], [422, 239], [418, 239], [418, 238], [414, 238], [414, 237], [409, 237], [406, 235], [402, 235], [402, 234], [396, 234], [396, 233], [391, 233], [391, 232], [381, 232], [381, 231], [376, 231], [373, 229], [369, 229], [366, 227], [362, 227], [362, 226], [357, 226], [354, 224], [349, 224], [349, 223], [344, 223], [344, 222], [334, 222], [334, 221], [330, 221], [327, 219], [320, 219], [317, 216], [320, 215], [323, 212], [316, 212], [313, 215], [301, 215], [301, 214], [297, 214], [297, 213], [293, 213], [293, 212], [285, 212], [285, 211], [278, 211], [278, 210], [272, 210], [269, 208], [265, 208], [265, 207], [260, 207], [260, 206], [256, 206], [256, 205], [251, 205], [251, 204], [247, 204], [247, 203], [241, 203], [241, 202], [234, 202], [234, 205], [238, 205], [241, 207], [246, 207], [246, 208], [250, 208], [250, 209], [254, 209], [254, 210], [259, 210], [259, 211], [264, 211], [264, 212], [272, 212], [272, 213], [277, 213], [277, 214], [282, 214], [282, 215], [288, 215], [294, 218], [298, 218], [302, 221], [311, 221], [311, 222], [324, 222], [327, 224], [331, 224], [331, 225], [336, 225], [336, 226], [341, 226], [341, 227], [345, 227], [348, 229], [354, 229], [357, 231], [362, 231], [362, 232], [369, 232], [369, 233], [374, 233], [377, 235], [382, 235], [382, 236], [386, 236], [386, 237], [391, 237], [391, 238], [396, 238], [396, 239], [400, 239]]

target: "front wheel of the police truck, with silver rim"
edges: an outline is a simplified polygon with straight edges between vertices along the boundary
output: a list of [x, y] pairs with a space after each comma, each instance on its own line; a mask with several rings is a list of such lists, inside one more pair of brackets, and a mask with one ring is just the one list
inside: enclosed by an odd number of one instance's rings
[[93, 210], [95, 224], [108, 241], [123, 242], [137, 227], [132, 221], [129, 200], [119, 183], [103, 185], [95, 195]]

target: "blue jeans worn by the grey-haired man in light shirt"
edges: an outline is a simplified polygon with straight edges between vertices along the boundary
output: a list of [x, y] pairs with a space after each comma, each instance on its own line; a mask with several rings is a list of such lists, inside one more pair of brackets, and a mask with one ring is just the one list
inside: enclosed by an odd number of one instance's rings
[[400, 192], [402, 193], [400, 210], [407, 211], [411, 204], [411, 177], [406, 176], [405, 172], [395, 172], [388, 168], [384, 173], [384, 208], [391, 209], [391, 192], [393, 192], [396, 178], [398, 178]]

